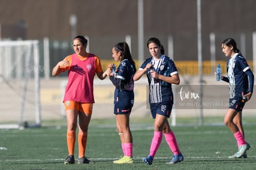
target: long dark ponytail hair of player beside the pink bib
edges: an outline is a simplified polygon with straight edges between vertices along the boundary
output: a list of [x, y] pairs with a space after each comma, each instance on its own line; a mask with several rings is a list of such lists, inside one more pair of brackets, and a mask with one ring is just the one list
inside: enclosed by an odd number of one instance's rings
[[135, 61], [134, 59], [132, 59], [132, 54], [130, 54], [129, 45], [127, 45], [126, 42], [117, 43], [116, 45], [114, 45], [114, 49], [116, 51], [121, 52], [121, 61], [124, 59], [127, 59], [130, 61], [130, 63], [132, 63], [132, 66], [134, 67], [134, 71], [136, 72]]

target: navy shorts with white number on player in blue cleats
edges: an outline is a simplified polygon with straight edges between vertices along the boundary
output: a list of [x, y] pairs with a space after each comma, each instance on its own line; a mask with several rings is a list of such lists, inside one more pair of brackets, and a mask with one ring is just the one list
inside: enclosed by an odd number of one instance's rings
[[153, 119], [156, 118], [156, 114], [160, 114], [169, 118], [172, 109], [173, 103], [170, 103], [169, 101], [162, 103], [150, 103], [150, 111]]

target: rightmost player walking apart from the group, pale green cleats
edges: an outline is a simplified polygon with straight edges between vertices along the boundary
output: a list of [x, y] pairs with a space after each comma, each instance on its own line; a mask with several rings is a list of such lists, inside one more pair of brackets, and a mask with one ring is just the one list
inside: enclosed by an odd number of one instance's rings
[[[228, 38], [221, 42], [222, 52], [230, 57], [227, 63], [228, 77], [221, 75], [221, 80], [229, 83], [229, 108], [224, 116], [224, 123], [233, 132], [236, 138], [238, 151], [229, 158], [247, 158], [246, 151], [249, 143], [245, 142], [244, 127], [242, 126], [242, 109], [245, 101], [250, 100], [254, 90], [254, 74], [247, 61], [237, 49], [236, 41]], [[216, 76], [216, 73], [215, 73]]]

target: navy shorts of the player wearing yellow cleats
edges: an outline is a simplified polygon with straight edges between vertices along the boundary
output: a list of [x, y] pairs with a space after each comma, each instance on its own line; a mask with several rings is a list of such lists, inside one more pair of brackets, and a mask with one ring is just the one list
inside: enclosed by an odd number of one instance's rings
[[128, 114], [134, 106], [134, 91], [114, 90], [114, 114]]

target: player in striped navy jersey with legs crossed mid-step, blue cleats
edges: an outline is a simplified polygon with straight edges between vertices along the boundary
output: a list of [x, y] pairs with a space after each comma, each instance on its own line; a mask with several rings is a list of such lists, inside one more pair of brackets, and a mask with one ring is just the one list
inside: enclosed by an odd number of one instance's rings
[[171, 90], [171, 84], [179, 84], [179, 74], [173, 60], [164, 55], [164, 48], [158, 38], [150, 38], [147, 42], [147, 46], [151, 57], [143, 62], [140, 69], [134, 75], [134, 80], [136, 81], [139, 80], [143, 74], [147, 74], [151, 116], [155, 119], [150, 153], [147, 158], [143, 158], [143, 163], [152, 164], [163, 135], [174, 154], [169, 164], [179, 163], [183, 161], [184, 158], [168, 122], [173, 108], [173, 91]]

